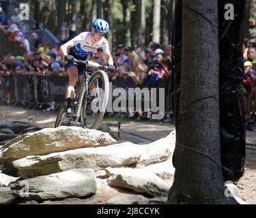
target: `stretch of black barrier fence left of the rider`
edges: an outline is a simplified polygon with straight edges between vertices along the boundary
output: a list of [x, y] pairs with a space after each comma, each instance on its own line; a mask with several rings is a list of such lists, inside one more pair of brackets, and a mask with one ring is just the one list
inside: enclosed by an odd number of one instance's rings
[[9, 91], [14, 105], [27, 104], [29, 107], [55, 102], [59, 106], [66, 99], [66, 76], [17, 75], [5, 78], [5, 81], [8, 86], [4, 82], [1, 84], [0, 97], [3, 99], [4, 93]]

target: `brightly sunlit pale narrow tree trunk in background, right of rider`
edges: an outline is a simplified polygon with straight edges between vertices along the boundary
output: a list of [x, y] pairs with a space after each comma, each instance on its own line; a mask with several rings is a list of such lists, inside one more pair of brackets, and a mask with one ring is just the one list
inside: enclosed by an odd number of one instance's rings
[[153, 41], [157, 43], [160, 43], [160, 14], [161, 14], [161, 0], [154, 0]]

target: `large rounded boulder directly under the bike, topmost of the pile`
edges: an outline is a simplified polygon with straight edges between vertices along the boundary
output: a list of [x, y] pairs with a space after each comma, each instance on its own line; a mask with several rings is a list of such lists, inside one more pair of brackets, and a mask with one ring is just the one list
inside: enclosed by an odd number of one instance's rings
[[29, 155], [48, 155], [85, 147], [108, 146], [116, 140], [108, 133], [81, 127], [47, 128], [25, 134], [5, 144], [0, 156], [5, 169], [12, 168], [12, 161]]

